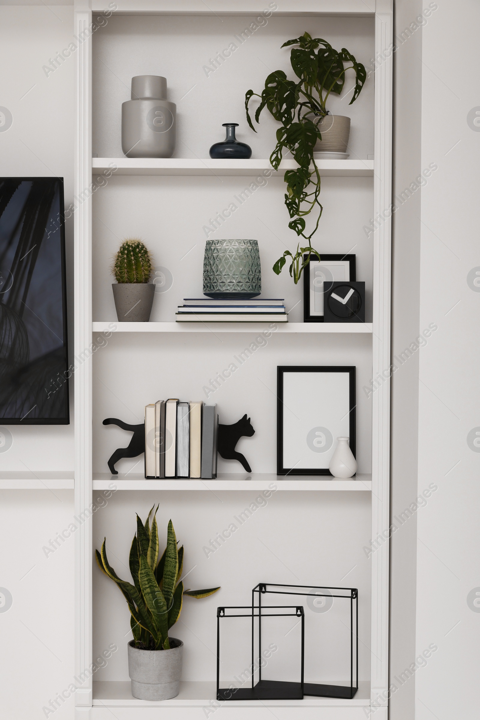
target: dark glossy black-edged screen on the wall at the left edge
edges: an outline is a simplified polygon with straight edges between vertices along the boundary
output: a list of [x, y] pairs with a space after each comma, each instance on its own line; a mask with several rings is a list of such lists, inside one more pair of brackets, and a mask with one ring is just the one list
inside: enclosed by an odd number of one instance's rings
[[0, 420], [68, 425], [63, 179], [0, 179]]

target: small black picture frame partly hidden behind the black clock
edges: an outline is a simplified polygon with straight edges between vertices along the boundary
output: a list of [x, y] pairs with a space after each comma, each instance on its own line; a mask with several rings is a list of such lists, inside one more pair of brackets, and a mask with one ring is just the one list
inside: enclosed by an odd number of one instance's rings
[[320, 253], [320, 258], [311, 259], [304, 269], [304, 323], [323, 323], [325, 282], [356, 280], [355, 255]]

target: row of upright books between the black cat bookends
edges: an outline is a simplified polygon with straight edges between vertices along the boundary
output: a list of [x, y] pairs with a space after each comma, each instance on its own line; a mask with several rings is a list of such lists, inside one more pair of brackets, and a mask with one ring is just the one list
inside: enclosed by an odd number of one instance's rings
[[217, 477], [217, 405], [158, 400], [145, 406], [145, 477]]

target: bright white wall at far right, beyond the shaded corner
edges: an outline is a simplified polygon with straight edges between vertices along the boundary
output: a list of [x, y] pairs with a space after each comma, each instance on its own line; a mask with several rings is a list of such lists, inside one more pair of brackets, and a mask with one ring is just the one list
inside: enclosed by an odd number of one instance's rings
[[417, 655], [438, 651], [415, 675], [417, 720], [479, 713], [479, 23], [476, 1], [442, 0], [423, 30], [422, 166], [438, 171], [422, 189], [420, 328], [438, 331], [420, 351], [418, 488], [438, 491], [417, 513]]

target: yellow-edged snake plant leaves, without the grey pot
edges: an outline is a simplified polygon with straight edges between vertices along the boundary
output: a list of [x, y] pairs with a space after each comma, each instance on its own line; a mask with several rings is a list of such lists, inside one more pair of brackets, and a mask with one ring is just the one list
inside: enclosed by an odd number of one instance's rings
[[145, 525], [137, 515], [137, 532], [130, 548], [130, 572], [133, 585], [118, 577], [107, 559], [106, 539], [101, 552], [95, 551], [96, 562], [102, 572], [121, 590], [131, 613], [135, 647], [148, 650], [170, 649], [168, 631], [180, 617], [183, 596], [207, 598], [219, 588], [184, 590], [181, 580], [184, 564], [184, 546], [177, 546], [172, 521], [168, 523], [167, 546], [158, 559], [158, 526], [155, 510], [152, 526], [148, 513]]

